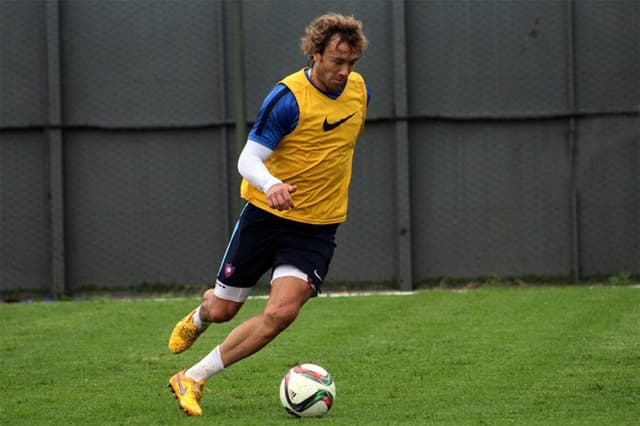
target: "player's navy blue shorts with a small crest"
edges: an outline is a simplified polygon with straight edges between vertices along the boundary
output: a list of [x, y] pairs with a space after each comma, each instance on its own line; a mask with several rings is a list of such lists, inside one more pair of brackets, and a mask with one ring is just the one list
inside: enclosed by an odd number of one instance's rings
[[307, 274], [317, 292], [329, 271], [337, 229], [338, 224], [295, 222], [247, 204], [220, 264], [218, 281], [249, 288], [270, 269], [292, 265]]

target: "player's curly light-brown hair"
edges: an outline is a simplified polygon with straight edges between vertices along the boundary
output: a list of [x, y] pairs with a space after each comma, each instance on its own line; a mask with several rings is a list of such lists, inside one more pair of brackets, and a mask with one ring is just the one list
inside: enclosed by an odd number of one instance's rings
[[340, 42], [347, 43], [358, 54], [362, 54], [369, 44], [362, 32], [361, 21], [331, 12], [318, 16], [305, 28], [300, 39], [302, 53], [313, 62], [313, 54], [322, 54], [334, 34], [338, 34]]

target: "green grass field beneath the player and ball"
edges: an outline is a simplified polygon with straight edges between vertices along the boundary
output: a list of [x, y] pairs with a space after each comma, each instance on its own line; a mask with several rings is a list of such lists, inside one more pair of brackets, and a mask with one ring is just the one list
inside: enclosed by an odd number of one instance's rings
[[[488, 288], [310, 301], [270, 346], [213, 378], [185, 416], [168, 378], [264, 300], [187, 352], [166, 348], [199, 298], [0, 305], [2, 425], [638, 425], [640, 288]], [[333, 409], [294, 419], [281, 376], [327, 368]]]

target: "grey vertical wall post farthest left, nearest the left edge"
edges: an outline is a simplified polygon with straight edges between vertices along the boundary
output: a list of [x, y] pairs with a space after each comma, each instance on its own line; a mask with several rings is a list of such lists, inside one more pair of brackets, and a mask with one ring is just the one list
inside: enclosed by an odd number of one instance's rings
[[64, 173], [60, 93], [60, 9], [57, 0], [45, 2], [47, 25], [47, 127], [49, 148], [49, 218], [51, 226], [51, 295], [66, 292], [64, 235]]

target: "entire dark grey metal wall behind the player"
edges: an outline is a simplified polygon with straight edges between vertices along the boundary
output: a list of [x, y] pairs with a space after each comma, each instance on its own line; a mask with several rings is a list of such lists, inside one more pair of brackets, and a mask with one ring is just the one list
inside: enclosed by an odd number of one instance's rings
[[639, 9], [3, 1], [0, 290], [212, 281], [236, 134], [327, 11], [373, 91], [329, 281], [640, 273]]

